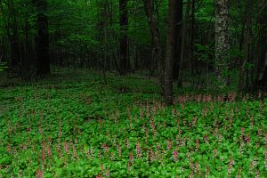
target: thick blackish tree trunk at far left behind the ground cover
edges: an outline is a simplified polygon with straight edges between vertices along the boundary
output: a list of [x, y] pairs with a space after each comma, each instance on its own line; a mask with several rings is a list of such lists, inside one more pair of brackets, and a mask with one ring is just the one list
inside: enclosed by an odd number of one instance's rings
[[37, 9], [37, 30], [36, 36], [36, 74], [50, 74], [50, 56], [49, 56], [49, 34], [47, 1], [36, 0]]

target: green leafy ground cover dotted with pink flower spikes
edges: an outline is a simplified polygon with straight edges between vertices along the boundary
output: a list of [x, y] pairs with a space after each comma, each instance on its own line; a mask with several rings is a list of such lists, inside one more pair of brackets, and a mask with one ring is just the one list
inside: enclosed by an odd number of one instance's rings
[[[66, 78], [65, 78], [66, 79]], [[1, 88], [0, 177], [266, 177], [267, 100], [88, 75]]]

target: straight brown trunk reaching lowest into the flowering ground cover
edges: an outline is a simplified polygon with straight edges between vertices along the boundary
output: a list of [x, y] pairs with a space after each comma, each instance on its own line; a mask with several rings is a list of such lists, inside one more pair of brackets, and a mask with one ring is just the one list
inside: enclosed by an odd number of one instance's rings
[[167, 105], [173, 104], [174, 92], [174, 61], [177, 55], [177, 17], [178, 17], [178, 1], [169, 0], [169, 19], [166, 35], [166, 62], [165, 62], [165, 101]]

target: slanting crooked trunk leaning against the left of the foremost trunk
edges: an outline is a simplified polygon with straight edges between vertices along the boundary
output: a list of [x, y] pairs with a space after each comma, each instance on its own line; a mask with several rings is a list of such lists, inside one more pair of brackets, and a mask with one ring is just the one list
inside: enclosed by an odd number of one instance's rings
[[153, 55], [155, 57], [155, 61], [158, 63], [158, 78], [159, 78], [159, 85], [161, 86], [161, 90], [164, 93], [164, 66], [165, 62], [162, 57], [162, 50], [160, 47], [160, 36], [159, 36], [159, 29], [158, 23], [154, 17], [154, 5], [153, 0], [143, 0], [143, 4], [145, 7], [145, 12], [149, 20], [150, 24], [150, 31], [153, 38]]

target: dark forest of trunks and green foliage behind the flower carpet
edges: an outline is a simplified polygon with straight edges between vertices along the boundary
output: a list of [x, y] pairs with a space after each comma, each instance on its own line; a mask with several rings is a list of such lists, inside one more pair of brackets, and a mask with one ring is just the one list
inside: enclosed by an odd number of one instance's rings
[[[0, 70], [158, 77], [195, 89], [267, 87], [266, 0], [1, 0]], [[174, 83], [175, 82], [175, 83]]]

